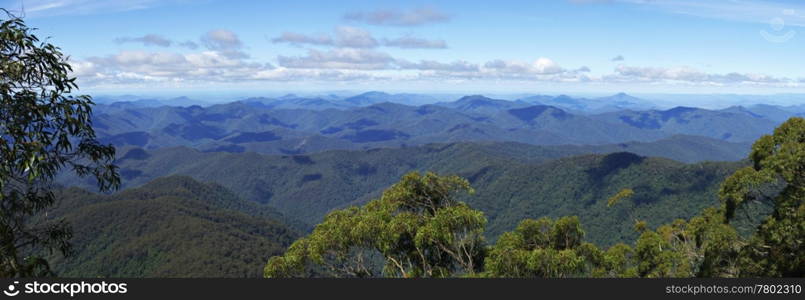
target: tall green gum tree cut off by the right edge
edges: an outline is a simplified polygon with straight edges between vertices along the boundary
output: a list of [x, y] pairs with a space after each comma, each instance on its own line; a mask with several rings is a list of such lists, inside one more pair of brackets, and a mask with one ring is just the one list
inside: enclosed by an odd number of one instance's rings
[[[791, 118], [752, 146], [752, 166], [724, 181], [726, 221], [761, 203], [772, 207], [742, 248], [740, 276], [805, 276], [805, 119]], [[782, 184], [777, 193], [764, 187]]]

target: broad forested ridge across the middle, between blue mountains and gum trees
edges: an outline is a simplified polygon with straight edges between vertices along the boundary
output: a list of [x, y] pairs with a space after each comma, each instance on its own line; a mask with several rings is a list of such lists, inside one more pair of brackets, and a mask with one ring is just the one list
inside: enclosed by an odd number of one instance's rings
[[[662, 149], [646, 145], [628, 148]], [[464, 200], [489, 216], [490, 238], [523, 218], [574, 214], [585, 217], [589, 238], [601, 244], [634, 237], [632, 222], [625, 218], [660, 224], [716, 203], [718, 184], [742, 165], [686, 165], [621, 152], [567, 157], [589, 149], [461, 143], [278, 156], [132, 148], [117, 163], [124, 186], [175, 174], [191, 176], [217, 182], [307, 224], [320, 222], [333, 209], [365, 203], [407, 172], [455, 174], [468, 178], [478, 191]], [[636, 191], [634, 203], [605, 209], [606, 199], [623, 188]]]

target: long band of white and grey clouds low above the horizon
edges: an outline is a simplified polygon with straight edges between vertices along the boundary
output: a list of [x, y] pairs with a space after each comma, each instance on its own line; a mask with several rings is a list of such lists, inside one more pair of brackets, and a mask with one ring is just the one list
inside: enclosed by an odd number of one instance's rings
[[[247, 81], [376, 81], [376, 80], [495, 80], [513, 82], [599, 82], [662, 83], [686, 85], [752, 85], [801, 87], [805, 79], [780, 78], [748, 73], [707, 73], [690, 67], [640, 67], [619, 65], [611, 73], [590, 75], [590, 68], [563, 67], [540, 57], [533, 61], [495, 59], [485, 63], [466, 60], [410, 61], [374, 50], [385, 46], [442, 46], [433, 41], [405, 37], [378, 41], [360, 28], [337, 27], [334, 37], [283, 34], [275, 42], [320, 44], [328, 50], [307, 49], [302, 55], [277, 56], [278, 66], [257, 62], [243, 52], [243, 41], [232, 31], [217, 29], [201, 36], [199, 42], [176, 42], [156, 34], [120, 38], [120, 43], [137, 42], [160, 47], [180, 46], [203, 51], [120, 51], [103, 57], [71, 61], [72, 75], [89, 85], [151, 83], [223, 83]], [[281, 41], [280, 41], [281, 40]], [[613, 58], [620, 61], [622, 56]]]

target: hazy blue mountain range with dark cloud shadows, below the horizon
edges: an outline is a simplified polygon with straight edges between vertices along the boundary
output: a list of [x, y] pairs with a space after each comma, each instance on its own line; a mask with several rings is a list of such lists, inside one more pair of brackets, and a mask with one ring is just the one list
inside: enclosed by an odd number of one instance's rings
[[603, 145], [651, 142], [679, 134], [747, 143], [799, 114], [773, 106], [629, 109], [590, 114], [537, 104], [607, 103], [597, 109], [642, 105], [639, 99], [626, 94], [596, 99], [545, 96], [516, 101], [474, 95], [420, 106], [393, 103], [411, 99], [407, 97], [379, 92], [346, 99], [289, 95], [207, 107], [113, 103], [96, 107], [94, 126], [103, 142], [117, 146], [302, 154], [465, 141]]

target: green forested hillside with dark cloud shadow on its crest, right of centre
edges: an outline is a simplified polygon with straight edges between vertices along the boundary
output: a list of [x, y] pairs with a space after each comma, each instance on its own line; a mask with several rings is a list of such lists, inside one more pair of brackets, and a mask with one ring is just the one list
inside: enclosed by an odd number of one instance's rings
[[[636, 220], [653, 228], [718, 204], [721, 182], [743, 165], [686, 165], [628, 152], [575, 156], [514, 166], [499, 176], [472, 174], [467, 178], [476, 194], [462, 199], [487, 215], [490, 238], [523, 219], [573, 215], [579, 216], [587, 241], [609, 246], [637, 238]], [[623, 189], [634, 195], [609, 207], [607, 200]]]

